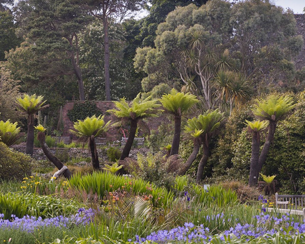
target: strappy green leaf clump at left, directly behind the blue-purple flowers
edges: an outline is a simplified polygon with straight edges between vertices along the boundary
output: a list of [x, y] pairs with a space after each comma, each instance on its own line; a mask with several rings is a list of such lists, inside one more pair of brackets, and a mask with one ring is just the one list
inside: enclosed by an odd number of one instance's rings
[[0, 194], [0, 212], [4, 213], [5, 219], [10, 219], [12, 214], [20, 218], [27, 214], [42, 218], [55, 217], [76, 213], [80, 206], [81, 204], [73, 200], [30, 192]]

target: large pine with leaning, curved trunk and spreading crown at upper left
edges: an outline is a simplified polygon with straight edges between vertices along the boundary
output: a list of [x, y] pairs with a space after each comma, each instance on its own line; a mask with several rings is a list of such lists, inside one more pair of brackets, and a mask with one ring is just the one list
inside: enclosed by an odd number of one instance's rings
[[36, 52], [48, 57], [48, 64], [70, 60], [69, 69], [59, 69], [50, 75], [75, 74], [80, 100], [84, 100], [78, 34], [91, 21], [91, 17], [80, 7], [80, 2], [26, 0], [17, 4], [16, 12], [19, 13], [17, 21], [21, 25], [20, 32], [27, 35]]

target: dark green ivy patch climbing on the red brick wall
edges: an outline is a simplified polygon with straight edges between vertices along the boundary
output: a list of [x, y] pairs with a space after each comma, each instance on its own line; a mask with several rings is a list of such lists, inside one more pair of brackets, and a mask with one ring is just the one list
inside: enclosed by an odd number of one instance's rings
[[73, 108], [68, 111], [67, 115], [72, 122], [84, 120], [87, 117], [101, 114], [101, 111], [96, 107], [94, 102], [75, 102]]

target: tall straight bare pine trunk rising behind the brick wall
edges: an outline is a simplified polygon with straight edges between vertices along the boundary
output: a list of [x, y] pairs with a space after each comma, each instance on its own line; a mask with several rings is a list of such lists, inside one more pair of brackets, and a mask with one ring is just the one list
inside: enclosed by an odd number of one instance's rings
[[104, 27], [104, 48], [105, 48], [105, 93], [106, 101], [111, 101], [110, 98], [110, 71], [109, 71], [109, 33], [108, 23], [105, 14], [103, 14], [103, 27]]

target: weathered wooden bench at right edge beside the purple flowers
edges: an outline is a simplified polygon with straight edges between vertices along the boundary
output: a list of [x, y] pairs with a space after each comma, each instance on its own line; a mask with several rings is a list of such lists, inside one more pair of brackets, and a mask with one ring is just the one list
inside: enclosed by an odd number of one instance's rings
[[268, 212], [303, 215], [305, 219], [305, 195], [278, 195], [275, 193], [276, 208], [266, 208]]

